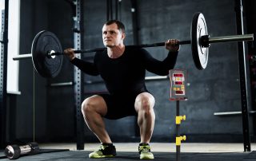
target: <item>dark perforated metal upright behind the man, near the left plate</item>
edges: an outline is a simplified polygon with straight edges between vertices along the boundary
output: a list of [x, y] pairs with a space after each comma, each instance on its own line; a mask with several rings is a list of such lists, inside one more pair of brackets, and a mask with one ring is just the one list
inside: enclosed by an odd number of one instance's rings
[[[74, 49], [81, 49], [82, 38], [81, 38], [81, 26], [82, 26], [82, 1], [76, 0], [75, 5], [75, 16], [74, 16]], [[81, 53], [76, 55], [81, 58]], [[77, 150], [84, 149], [84, 120], [81, 112], [82, 104], [82, 74], [81, 70], [74, 68], [74, 100], [75, 100], [75, 118], [76, 118], [76, 139], [77, 139]]]

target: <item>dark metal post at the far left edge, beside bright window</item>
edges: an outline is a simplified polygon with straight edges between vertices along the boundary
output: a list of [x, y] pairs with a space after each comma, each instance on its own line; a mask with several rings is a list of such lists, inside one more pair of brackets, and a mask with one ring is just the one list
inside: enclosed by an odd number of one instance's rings
[[6, 144], [6, 81], [7, 81], [7, 49], [8, 49], [8, 10], [9, 0], [5, 0], [2, 10], [1, 61], [0, 61], [0, 147]]

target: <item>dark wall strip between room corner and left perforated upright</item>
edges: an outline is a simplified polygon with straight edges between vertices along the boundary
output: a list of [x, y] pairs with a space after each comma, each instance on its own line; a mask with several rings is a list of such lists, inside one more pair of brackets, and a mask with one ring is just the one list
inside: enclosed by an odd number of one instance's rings
[[[48, 2], [49, 29], [57, 35], [62, 48], [73, 45], [73, 8], [68, 1]], [[56, 10], [58, 8], [58, 10]], [[47, 88], [47, 128], [49, 140], [62, 140], [75, 137], [75, 106], [73, 86], [51, 87], [50, 84], [73, 82], [73, 65], [64, 57], [62, 70], [57, 77], [48, 80]]]

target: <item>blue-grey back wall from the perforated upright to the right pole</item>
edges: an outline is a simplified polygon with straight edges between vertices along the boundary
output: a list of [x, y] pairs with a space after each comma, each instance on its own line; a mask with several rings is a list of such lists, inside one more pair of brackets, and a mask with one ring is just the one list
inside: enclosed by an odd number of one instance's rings
[[[125, 1], [126, 9], [122, 13], [126, 17], [122, 21], [126, 24], [127, 38], [126, 44], [133, 44], [131, 37], [132, 19], [130, 2]], [[105, 18], [102, 6], [95, 1], [87, 1], [85, 10], [85, 45], [88, 48], [102, 46], [100, 29], [102, 19]], [[94, 8], [99, 8], [102, 12], [91, 12]], [[140, 43], [153, 43], [164, 41], [169, 38], [179, 38], [180, 40], [190, 39], [190, 25], [195, 12], [202, 12], [206, 17], [208, 32], [211, 37], [225, 36], [236, 33], [234, 1], [138, 1], [138, 26]], [[93, 18], [93, 19], [91, 19]], [[97, 22], [96, 22], [97, 21]], [[86, 27], [87, 26], [87, 27]], [[99, 26], [99, 27], [98, 27]], [[96, 39], [96, 40], [95, 40]], [[162, 60], [166, 57], [166, 49], [159, 47], [147, 49], [154, 57]], [[236, 43], [216, 44], [210, 47], [209, 64], [206, 70], [198, 71], [192, 61], [190, 45], [182, 45], [179, 52], [176, 69], [187, 69], [189, 100], [182, 102], [181, 113], [187, 116], [187, 120], [182, 124], [182, 133], [193, 139], [202, 138], [202, 135], [209, 137], [205, 141], [214, 140], [213, 135], [224, 136], [242, 135], [241, 116], [214, 116], [214, 112], [236, 112], [241, 111], [239, 73], [238, 73], [238, 53]], [[148, 76], [154, 76], [147, 73]], [[86, 77], [88, 81], [95, 78]], [[174, 135], [174, 115], [175, 103], [169, 101], [170, 82], [148, 81], [146, 83], [150, 92], [156, 98], [155, 112], [156, 124], [153, 139], [164, 138], [170, 140], [170, 135]], [[85, 86], [85, 91], [102, 91], [102, 84], [91, 84]], [[123, 130], [123, 123], [130, 130]], [[222, 124], [220, 124], [222, 123]], [[134, 118], [125, 118], [118, 122], [107, 120], [107, 127], [110, 135], [114, 138], [129, 135], [133, 137]], [[228, 125], [228, 126], [227, 126]], [[113, 127], [121, 128], [122, 132], [116, 133], [111, 130]], [[114, 129], [116, 129], [114, 128]], [[226, 136], [226, 137], [225, 137]], [[233, 139], [233, 138], [232, 138]], [[238, 138], [239, 140], [242, 139]], [[238, 141], [238, 139], [236, 139]], [[190, 139], [191, 140], [191, 139]]]

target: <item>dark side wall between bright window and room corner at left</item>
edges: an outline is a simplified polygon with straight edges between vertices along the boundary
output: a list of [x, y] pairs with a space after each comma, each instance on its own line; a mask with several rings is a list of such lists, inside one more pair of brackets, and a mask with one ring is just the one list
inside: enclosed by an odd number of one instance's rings
[[[48, 7], [44, 1], [21, 1], [20, 53], [31, 53], [34, 36], [47, 29]], [[46, 137], [46, 79], [34, 71], [31, 60], [19, 63], [19, 90], [16, 107], [16, 138], [18, 140]]]

